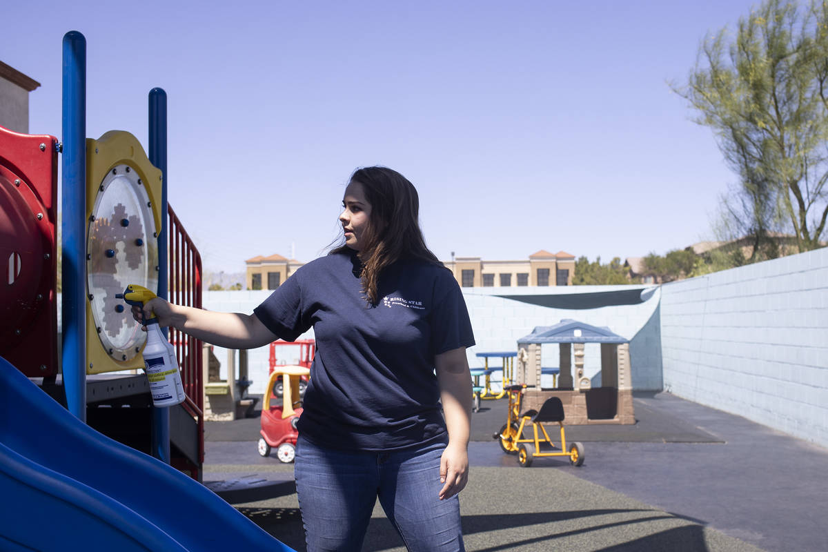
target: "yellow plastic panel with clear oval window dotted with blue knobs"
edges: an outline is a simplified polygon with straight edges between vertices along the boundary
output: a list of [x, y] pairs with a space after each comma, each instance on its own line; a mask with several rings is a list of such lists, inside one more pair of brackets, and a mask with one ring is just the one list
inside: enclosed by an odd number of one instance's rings
[[161, 170], [129, 132], [86, 141], [86, 372], [144, 366], [147, 336], [115, 294], [158, 289]]

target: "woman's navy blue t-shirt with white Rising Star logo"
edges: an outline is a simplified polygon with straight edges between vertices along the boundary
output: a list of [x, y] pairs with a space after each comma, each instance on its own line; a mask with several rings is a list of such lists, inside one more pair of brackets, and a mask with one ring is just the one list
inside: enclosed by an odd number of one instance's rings
[[474, 345], [460, 286], [444, 266], [404, 259], [383, 271], [372, 306], [360, 271], [353, 252], [320, 257], [253, 311], [286, 341], [314, 328], [300, 433], [363, 451], [447, 443], [434, 358]]

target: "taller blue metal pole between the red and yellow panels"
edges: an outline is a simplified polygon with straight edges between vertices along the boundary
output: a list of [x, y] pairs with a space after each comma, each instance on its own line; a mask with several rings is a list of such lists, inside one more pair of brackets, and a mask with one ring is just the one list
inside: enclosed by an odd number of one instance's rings
[[86, 39], [63, 37], [63, 350], [66, 407], [86, 421]]

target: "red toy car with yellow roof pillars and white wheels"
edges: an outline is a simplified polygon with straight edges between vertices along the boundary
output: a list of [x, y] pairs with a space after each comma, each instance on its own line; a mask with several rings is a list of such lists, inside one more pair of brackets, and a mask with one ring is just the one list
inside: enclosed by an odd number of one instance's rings
[[[267, 394], [262, 404], [262, 437], [258, 440], [258, 451], [269, 456], [276, 449], [276, 457], [284, 463], [293, 462], [296, 456], [296, 424], [302, 413], [299, 383], [307, 378], [310, 369], [303, 366], [279, 366], [274, 368], [267, 382]], [[273, 386], [281, 380], [286, 383], [282, 399], [275, 396]], [[281, 403], [281, 404], [280, 404]]]

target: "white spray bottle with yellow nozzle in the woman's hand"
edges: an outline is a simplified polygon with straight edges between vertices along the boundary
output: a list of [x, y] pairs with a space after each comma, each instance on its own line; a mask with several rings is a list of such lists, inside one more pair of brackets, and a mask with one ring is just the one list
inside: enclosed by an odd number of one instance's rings
[[[143, 309], [148, 301], [156, 298], [146, 287], [130, 284], [123, 293], [115, 295], [123, 299], [128, 305], [137, 305]], [[176, 361], [176, 349], [161, 333], [161, 326], [155, 313], [150, 313], [149, 319], [144, 319], [147, 326], [147, 345], [144, 347], [143, 357], [147, 379], [150, 382], [153, 406], [173, 406], [184, 401], [184, 386], [181, 385], [181, 373]]]

